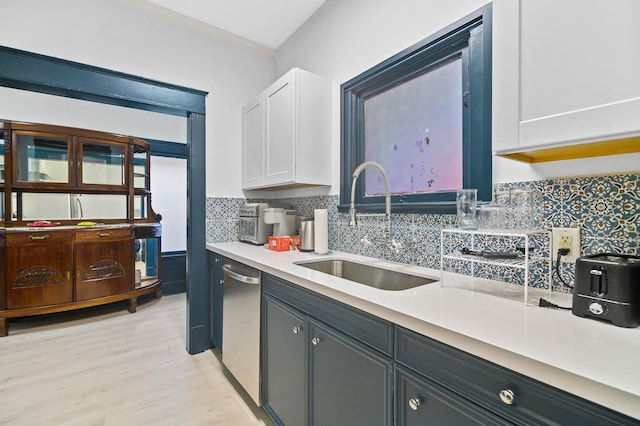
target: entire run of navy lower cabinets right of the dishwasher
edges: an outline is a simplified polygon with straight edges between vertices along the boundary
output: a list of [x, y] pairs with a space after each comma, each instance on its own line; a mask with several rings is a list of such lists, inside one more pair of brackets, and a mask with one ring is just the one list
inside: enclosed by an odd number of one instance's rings
[[279, 425], [638, 425], [263, 274], [263, 403]]

